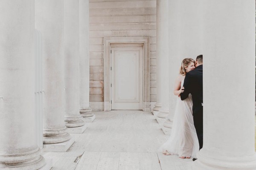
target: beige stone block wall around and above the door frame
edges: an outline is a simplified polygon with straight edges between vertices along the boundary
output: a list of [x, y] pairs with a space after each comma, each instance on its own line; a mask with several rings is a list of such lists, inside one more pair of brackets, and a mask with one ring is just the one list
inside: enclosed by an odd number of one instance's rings
[[103, 111], [103, 37], [151, 37], [151, 102], [156, 102], [156, 0], [90, 0], [90, 107]]

